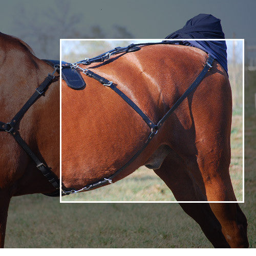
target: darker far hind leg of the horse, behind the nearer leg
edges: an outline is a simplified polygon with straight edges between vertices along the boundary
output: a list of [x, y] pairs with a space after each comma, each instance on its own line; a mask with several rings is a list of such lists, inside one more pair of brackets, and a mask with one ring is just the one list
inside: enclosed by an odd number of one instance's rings
[[[172, 190], [178, 201], [206, 201], [204, 193], [186, 171], [182, 159], [169, 154], [155, 173]], [[216, 248], [229, 248], [221, 224], [207, 203], [180, 203], [183, 210], [201, 227], [205, 236]]]

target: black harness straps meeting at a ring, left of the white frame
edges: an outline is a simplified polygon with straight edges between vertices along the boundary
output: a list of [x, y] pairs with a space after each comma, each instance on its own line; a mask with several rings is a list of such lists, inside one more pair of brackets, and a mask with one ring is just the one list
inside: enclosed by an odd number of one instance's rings
[[24, 149], [24, 151], [30, 156], [30, 158], [35, 162], [36, 167], [40, 170], [42, 175], [44, 175], [47, 180], [52, 184], [55, 189], [59, 189], [59, 179], [52, 172], [50, 167], [48, 167], [45, 163], [39, 160], [39, 158], [33, 153], [30, 149], [29, 145], [20, 137], [19, 132], [16, 129], [17, 124], [23, 118], [28, 109], [33, 105], [33, 103], [44, 93], [47, 91], [49, 85], [53, 82], [55, 76], [55, 72], [58, 70], [56, 66], [54, 68], [54, 72], [48, 74], [44, 81], [36, 88], [33, 95], [29, 98], [29, 100], [24, 104], [22, 109], [12, 118], [12, 120], [8, 123], [0, 122], [0, 132], [8, 132], [11, 134], [17, 143]]

